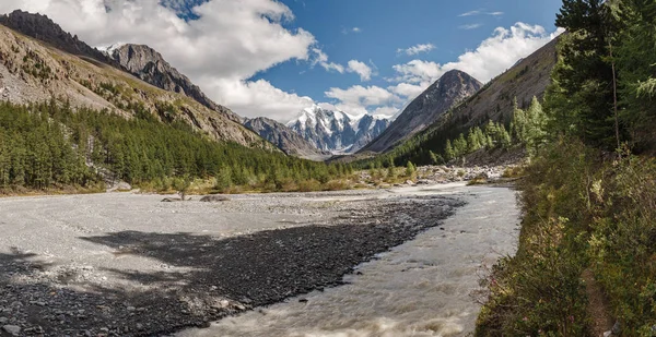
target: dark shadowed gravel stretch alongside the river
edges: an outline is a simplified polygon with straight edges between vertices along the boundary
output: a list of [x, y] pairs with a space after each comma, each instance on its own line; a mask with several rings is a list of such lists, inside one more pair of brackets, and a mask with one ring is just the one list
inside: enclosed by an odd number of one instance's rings
[[[430, 207], [421, 207], [427, 203]], [[37, 276], [47, 266], [28, 262], [33, 255], [0, 255], [0, 317], [7, 308], [10, 323], [19, 320], [32, 328], [26, 335], [40, 332], [36, 327], [40, 326], [49, 336], [161, 336], [206, 326], [253, 306], [340, 285], [358, 264], [437, 226], [460, 205], [450, 198], [387, 203], [370, 216], [355, 214], [331, 226], [226, 239], [139, 231], [80, 238], [109, 246], [116, 255], [159, 261], [161, 272], [108, 270], [150, 290], [127, 291], [92, 282], [84, 291], [75, 291], [60, 287], [66, 281], [58, 285]], [[1, 268], [7, 264], [24, 269], [19, 273], [25, 277], [16, 278]], [[70, 279], [79, 282], [79, 276]]]

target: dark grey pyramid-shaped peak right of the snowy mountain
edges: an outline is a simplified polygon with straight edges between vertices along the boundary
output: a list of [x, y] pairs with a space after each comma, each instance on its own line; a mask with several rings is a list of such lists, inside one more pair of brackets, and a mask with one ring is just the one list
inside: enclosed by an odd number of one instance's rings
[[444, 112], [481, 88], [482, 84], [459, 70], [445, 73], [419, 95], [399, 117], [360, 152], [382, 153], [434, 123]]

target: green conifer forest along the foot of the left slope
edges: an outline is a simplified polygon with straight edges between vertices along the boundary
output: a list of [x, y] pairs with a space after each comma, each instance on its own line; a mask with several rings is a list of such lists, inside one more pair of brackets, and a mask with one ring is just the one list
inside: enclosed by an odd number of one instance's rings
[[98, 189], [104, 179], [167, 190], [174, 178], [212, 178], [216, 191], [319, 190], [351, 172], [341, 164], [216, 143], [187, 123], [163, 123], [150, 113], [127, 120], [108, 111], [73, 111], [55, 101], [0, 104], [4, 191]]

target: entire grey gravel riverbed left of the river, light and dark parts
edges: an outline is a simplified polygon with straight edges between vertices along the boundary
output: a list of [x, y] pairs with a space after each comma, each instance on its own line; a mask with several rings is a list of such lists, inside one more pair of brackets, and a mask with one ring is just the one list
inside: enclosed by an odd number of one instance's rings
[[0, 200], [0, 336], [162, 336], [333, 287], [464, 202], [425, 188]]

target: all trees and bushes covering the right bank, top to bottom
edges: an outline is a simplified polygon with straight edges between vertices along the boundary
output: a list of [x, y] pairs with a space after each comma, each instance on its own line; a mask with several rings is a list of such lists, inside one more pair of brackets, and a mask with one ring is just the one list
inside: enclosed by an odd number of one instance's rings
[[557, 25], [519, 249], [476, 335], [656, 336], [656, 3], [564, 0]]

